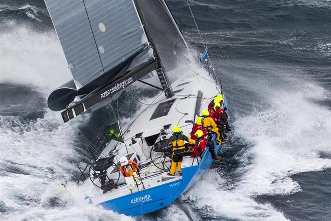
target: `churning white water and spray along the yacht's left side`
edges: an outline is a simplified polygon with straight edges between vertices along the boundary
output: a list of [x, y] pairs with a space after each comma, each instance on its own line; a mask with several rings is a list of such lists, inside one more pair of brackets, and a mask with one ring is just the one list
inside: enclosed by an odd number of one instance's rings
[[[21, 27], [2, 33], [0, 114], [1, 200], [4, 220], [131, 220], [81, 200], [77, 162], [87, 153], [47, 94], [71, 76], [54, 33]], [[61, 192], [69, 180], [71, 194]]]

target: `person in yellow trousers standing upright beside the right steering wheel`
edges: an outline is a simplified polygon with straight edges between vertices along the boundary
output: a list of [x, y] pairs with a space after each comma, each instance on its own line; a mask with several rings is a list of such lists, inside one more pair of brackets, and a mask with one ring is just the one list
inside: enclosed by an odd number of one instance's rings
[[191, 144], [195, 144], [196, 142], [185, 136], [179, 126], [175, 126], [173, 132], [174, 134], [169, 138], [169, 144], [173, 145], [173, 155], [168, 175], [175, 176], [176, 167], [178, 167], [178, 172], [182, 176], [182, 161], [187, 146], [185, 141]]

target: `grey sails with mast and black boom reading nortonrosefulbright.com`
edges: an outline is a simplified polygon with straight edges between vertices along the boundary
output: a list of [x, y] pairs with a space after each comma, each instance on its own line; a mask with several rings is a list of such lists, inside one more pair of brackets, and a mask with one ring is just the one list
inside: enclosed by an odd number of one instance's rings
[[176, 68], [188, 48], [164, 1], [45, 3], [77, 88], [60, 87], [48, 98], [54, 111], [65, 109], [65, 122], [106, 104], [153, 70], [167, 83], [161, 82], [163, 89], [171, 90], [165, 72]]

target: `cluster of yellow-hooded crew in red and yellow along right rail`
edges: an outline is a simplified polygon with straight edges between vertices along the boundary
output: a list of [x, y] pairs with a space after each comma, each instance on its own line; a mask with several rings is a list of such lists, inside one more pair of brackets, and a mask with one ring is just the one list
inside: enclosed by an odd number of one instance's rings
[[214, 142], [211, 139], [212, 135], [216, 134], [217, 145], [227, 143], [228, 136], [225, 132], [228, 133], [232, 130], [228, 123], [228, 115], [225, 112], [227, 108], [222, 108], [223, 100], [223, 95], [218, 94], [209, 103], [208, 109], [202, 111], [202, 116], [198, 117], [193, 124], [190, 133], [191, 138], [184, 135], [179, 126], [174, 127], [174, 133], [168, 140], [169, 144], [173, 146], [169, 176], [175, 176], [176, 167], [178, 167], [179, 174], [182, 175], [183, 157], [202, 156], [207, 146], [213, 160], [221, 160], [215, 153]]

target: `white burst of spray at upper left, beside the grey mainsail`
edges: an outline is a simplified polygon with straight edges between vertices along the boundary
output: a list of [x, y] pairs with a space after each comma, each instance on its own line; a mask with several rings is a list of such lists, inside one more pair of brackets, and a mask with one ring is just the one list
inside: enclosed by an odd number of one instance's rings
[[20, 27], [2, 33], [1, 80], [32, 85], [50, 92], [71, 78], [55, 33], [39, 33]]

